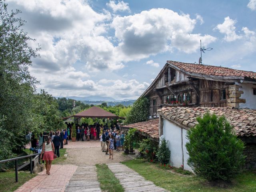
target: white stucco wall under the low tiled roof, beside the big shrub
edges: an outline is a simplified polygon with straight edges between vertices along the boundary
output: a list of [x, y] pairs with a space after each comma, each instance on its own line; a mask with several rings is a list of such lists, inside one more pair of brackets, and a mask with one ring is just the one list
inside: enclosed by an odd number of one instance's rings
[[[184, 169], [192, 171], [192, 168], [188, 166], [188, 152], [186, 150], [186, 129], [182, 129], [176, 124], [163, 119], [163, 135], [160, 138], [168, 140], [169, 149], [171, 151], [170, 164], [179, 168], [182, 165], [182, 155], [184, 157]], [[182, 146], [183, 140], [183, 146]], [[161, 141], [161, 139], [160, 139]], [[183, 148], [183, 154], [182, 154]]]

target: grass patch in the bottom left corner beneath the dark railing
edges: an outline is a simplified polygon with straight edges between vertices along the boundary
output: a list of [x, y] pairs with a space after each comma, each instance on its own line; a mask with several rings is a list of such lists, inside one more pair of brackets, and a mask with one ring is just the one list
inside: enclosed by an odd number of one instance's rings
[[36, 174], [30, 174], [29, 171], [19, 171], [18, 172], [18, 183], [15, 182], [15, 172], [0, 172], [0, 191], [1, 192], [12, 192], [16, 190], [19, 186], [24, 184], [26, 181], [30, 180], [36, 176]]

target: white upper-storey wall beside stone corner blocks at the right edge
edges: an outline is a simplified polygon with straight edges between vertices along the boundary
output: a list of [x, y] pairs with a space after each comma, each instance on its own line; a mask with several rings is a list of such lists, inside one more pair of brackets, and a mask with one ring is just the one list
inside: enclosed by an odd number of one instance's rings
[[256, 95], [253, 94], [252, 88], [256, 88], [256, 85], [250, 84], [250, 83], [238, 83], [239, 86], [242, 88], [239, 88], [239, 90], [243, 91], [244, 94], [241, 94], [241, 99], [245, 99], [245, 103], [240, 103], [240, 108], [250, 108], [250, 109], [256, 109]]

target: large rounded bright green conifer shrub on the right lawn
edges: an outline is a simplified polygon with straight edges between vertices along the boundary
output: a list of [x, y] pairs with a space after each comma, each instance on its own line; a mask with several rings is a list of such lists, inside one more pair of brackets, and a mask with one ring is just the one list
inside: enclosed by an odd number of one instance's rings
[[224, 116], [204, 114], [188, 130], [188, 165], [209, 181], [230, 180], [244, 166], [244, 143], [236, 137]]

